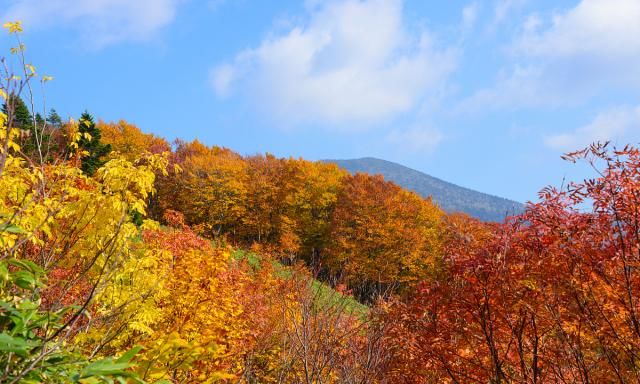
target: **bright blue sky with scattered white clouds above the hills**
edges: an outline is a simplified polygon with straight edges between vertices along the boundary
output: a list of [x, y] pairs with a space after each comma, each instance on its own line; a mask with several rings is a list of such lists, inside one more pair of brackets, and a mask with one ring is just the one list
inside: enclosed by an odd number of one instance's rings
[[[640, 141], [640, 0], [0, 0], [48, 106], [519, 201]], [[0, 41], [2, 52], [13, 44]]]

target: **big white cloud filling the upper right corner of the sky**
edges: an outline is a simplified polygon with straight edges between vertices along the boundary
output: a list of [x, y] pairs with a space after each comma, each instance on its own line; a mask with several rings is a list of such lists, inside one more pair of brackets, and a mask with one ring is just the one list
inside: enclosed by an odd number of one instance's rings
[[511, 66], [494, 86], [463, 105], [563, 106], [605, 91], [635, 92], [640, 86], [638, 20], [638, 0], [582, 0], [551, 17], [530, 15], [510, 47]]

